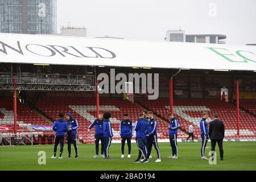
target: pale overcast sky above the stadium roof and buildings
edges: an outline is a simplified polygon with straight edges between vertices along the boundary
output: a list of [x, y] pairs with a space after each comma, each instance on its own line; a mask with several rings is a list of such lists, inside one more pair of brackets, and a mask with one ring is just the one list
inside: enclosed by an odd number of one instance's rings
[[256, 43], [256, 0], [57, 0], [57, 27], [85, 26], [88, 37], [163, 41], [166, 31], [223, 34]]

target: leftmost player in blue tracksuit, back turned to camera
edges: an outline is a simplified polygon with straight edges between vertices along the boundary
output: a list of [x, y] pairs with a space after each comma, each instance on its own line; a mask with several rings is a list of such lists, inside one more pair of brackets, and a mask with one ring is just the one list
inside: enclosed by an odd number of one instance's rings
[[68, 131], [68, 125], [67, 122], [64, 121], [64, 114], [59, 114], [59, 119], [55, 121], [52, 125], [52, 130], [56, 132], [55, 139], [54, 139], [54, 149], [53, 149], [53, 156], [52, 159], [56, 158], [56, 151], [57, 146], [60, 143], [60, 156], [59, 159], [62, 159], [62, 153], [63, 153], [63, 147], [64, 147], [64, 138], [65, 138], [65, 132]]

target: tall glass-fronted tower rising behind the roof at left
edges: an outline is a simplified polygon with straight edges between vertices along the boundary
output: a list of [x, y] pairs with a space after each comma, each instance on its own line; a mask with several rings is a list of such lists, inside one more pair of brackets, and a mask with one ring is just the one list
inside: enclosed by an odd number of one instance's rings
[[56, 0], [0, 0], [0, 32], [56, 34]]

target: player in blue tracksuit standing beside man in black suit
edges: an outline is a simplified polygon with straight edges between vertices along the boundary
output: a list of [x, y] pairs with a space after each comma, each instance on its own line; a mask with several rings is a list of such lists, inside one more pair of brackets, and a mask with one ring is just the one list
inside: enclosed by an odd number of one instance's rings
[[203, 118], [200, 121], [200, 130], [201, 130], [201, 138], [202, 138], [202, 146], [201, 146], [201, 159], [208, 160], [205, 155], [205, 147], [207, 146], [207, 142], [209, 139], [209, 133], [208, 133], [208, 125], [206, 122], [206, 119], [208, 118], [208, 113], [203, 113]]

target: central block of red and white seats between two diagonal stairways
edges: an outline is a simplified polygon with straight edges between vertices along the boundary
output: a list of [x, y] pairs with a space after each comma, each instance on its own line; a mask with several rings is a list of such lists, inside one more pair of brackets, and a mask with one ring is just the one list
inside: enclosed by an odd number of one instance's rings
[[[78, 136], [83, 143], [94, 143], [94, 128], [88, 132], [87, 127], [96, 118], [96, 106], [95, 98], [74, 98], [66, 97], [49, 97], [43, 96], [36, 102], [38, 107], [44, 114], [55, 120], [57, 114], [62, 111], [64, 113], [71, 112], [73, 117], [77, 119], [80, 125]], [[56, 103], [56, 104], [54, 104]], [[138, 117], [138, 113], [142, 112], [143, 107], [133, 104], [130, 101], [123, 101], [119, 98], [101, 98], [100, 99], [100, 111], [110, 111], [112, 113], [112, 129], [113, 129], [113, 140], [120, 140], [119, 135], [119, 121], [123, 118], [124, 113], [129, 114], [129, 118], [135, 122]], [[158, 121], [158, 138], [168, 139], [168, 123], [163, 119], [157, 118]], [[179, 131], [179, 137], [185, 139], [187, 134]], [[134, 139], [134, 137], [133, 137]]]

